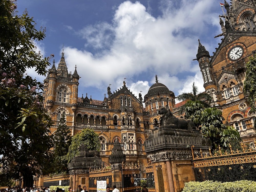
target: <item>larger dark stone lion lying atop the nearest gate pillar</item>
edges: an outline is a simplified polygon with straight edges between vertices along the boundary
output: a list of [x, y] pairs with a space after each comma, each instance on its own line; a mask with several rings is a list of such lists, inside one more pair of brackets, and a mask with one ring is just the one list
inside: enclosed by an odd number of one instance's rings
[[190, 119], [176, 118], [167, 107], [162, 107], [158, 110], [158, 114], [161, 115], [160, 122], [161, 127], [159, 128], [170, 128], [170, 129], [185, 129], [192, 130], [196, 129], [195, 124]]

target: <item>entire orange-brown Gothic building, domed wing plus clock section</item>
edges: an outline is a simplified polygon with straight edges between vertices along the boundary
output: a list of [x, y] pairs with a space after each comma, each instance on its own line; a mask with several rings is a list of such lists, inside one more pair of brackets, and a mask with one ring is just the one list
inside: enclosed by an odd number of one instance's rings
[[[212, 106], [222, 110], [225, 124], [232, 125], [243, 141], [251, 142], [255, 136], [253, 122], [255, 114], [243, 94], [246, 62], [256, 52], [255, 0], [233, 0], [232, 6], [225, 1], [227, 19], [220, 17], [223, 36], [213, 56], [199, 41], [196, 58], [204, 79], [204, 87], [213, 97]], [[225, 16], [223, 16], [225, 17]], [[230, 21], [230, 22], [229, 22]], [[44, 83], [45, 106], [55, 124], [51, 133], [57, 130], [61, 114], [66, 114], [67, 126], [72, 135], [83, 128], [93, 128], [99, 134], [100, 155], [105, 166], [109, 166], [109, 155], [118, 138], [126, 154], [126, 163], [139, 161], [141, 178], [145, 178], [147, 155], [144, 142], [155, 126], [160, 125], [157, 110], [166, 106], [176, 113], [183, 103], [175, 104], [175, 95], [156, 76], [148, 93], [138, 98], [126, 87], [125, 81], [118, 91], [106, 88], [108, 96], [103, 101], [78, 97], [79, 75], [68, 73], [64, 53], [56, 69], [49, 70]], [[145, 108], [143, 107], [145, 103]]]

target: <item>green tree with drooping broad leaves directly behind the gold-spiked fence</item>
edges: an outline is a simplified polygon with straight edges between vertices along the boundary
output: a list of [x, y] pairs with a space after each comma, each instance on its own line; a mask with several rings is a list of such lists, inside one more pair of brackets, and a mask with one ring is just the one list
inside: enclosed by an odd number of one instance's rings
[[218, 145], [228, 148], [233, 140], [241, 141], [239, 132], [232, 126], [224, 125], [221, 115], [222, 111], [217, 108], [206, 108], [201, 112], [202, 134], [210, 138], [213, 148], [218, 148]]

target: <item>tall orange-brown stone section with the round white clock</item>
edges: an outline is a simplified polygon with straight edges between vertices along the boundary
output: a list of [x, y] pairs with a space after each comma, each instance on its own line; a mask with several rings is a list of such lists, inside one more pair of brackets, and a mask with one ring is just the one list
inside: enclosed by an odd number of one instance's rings
[[[199, 41], [197, 60], [202, 72], [206, 93], [213, 98], [212, 106], [222, 111], [226, 125], [232, 125], [244, 142], [255, 138], [253, 123], [256, 114], [243, 93], [246, 63], [256, 52], [256, 1], [225, 1], [227, 11], [220, 16], [222, 37], [216, 52], [209, 52]], [[227, 19], [226, 19], [227, 18]]]

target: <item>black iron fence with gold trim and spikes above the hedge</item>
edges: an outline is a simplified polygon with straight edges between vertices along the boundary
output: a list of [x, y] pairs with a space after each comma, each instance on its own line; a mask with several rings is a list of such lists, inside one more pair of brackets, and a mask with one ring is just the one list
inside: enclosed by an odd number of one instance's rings
[[[243, 148], [243, 144], [242, 144]], [[194, 157], [193, 146], [193, 167], [195, 170], [196, 181], [221, 181], [233, 182], [237, 180], [254, 180], [256, 181], [256, 151], [252, 148], [249, 150], [233, 151], [230, 146], [230, 153], [218, 153], [205, 156], [202, 153]]]

